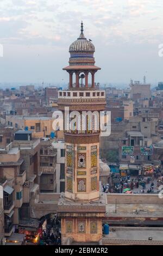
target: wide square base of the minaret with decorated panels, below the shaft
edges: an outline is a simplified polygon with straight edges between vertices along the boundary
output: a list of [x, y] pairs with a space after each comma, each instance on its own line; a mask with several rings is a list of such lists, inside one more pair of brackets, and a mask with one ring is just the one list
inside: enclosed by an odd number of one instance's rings
[[73, 202], [61, 196], [58, 203], [61, 218], [62, 244], [75, 242], [99, 242], [102, 239], [102, 220], [106, 212], [106, 195], [90, 203]]

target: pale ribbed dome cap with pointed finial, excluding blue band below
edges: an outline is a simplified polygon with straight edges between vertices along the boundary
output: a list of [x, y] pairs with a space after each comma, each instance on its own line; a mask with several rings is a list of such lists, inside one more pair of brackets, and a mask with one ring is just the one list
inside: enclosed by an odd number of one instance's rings
[[86, 40], [83, 34], [83, 22], [81, 23], [80, 36], [70, 45], [69, 52], [95, 52], [95, 46], [90, 40]]

